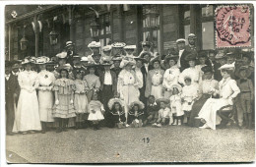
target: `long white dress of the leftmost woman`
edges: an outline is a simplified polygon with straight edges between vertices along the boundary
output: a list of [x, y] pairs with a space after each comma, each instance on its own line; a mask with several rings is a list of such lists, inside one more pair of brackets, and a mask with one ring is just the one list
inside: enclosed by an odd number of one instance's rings
[[13, 132], [40, 131], [40, 117], [35, 88], [38, 86], [37, 73], [24, 71], [18, 76], [21, 86], [20, 97], [15, 115]]

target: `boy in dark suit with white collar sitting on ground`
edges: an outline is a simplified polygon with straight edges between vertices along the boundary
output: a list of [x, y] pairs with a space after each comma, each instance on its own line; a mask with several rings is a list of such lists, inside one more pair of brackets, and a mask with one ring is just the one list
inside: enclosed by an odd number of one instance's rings
[[160, 107], [155, 100], [154, 95], [149, 96], [149, 103], [146, 108], [146, 120], [144, 121], [143, 125], [146, 126], [148, 124], [156, 123], [158, 120]]

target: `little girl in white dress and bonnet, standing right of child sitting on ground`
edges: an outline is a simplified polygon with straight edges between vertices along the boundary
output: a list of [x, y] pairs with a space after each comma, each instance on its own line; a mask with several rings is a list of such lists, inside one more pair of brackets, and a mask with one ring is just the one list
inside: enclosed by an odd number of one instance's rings
[[170, 109], [171, 114], [173, 115], [173, 124], [171, 122], [169, 125], [181, 125], [181, 118], [184, 115], [184, 112], [181, 107], [181, 86], [179, 84], [172, 84], [172, 96], [170, 96]]

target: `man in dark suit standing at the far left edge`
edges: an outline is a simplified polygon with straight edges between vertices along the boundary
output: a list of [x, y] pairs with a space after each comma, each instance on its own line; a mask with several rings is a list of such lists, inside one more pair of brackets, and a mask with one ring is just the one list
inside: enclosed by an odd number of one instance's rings
[[19, 83], [17, 77], [12, 74], [12, 63], [5, 62], [5, 110], [6, 110], [6, 134], [13, 135], [13, 126], [15, 120], [15, 99]]

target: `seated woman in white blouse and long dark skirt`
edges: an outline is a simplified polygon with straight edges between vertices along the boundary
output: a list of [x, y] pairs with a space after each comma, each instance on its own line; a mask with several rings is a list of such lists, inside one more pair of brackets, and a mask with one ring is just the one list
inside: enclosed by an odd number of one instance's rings
[[212, 91], [213, 88], [219, 89], [219, 82], [214, 80], [213, 77], [213, 69], [210, 66], [205, 66], [202, 68], [202, 71], [204, 72], [204, 80], [200, 84], [200, 94], [199, 100], [195, 101], [192, 110], [190, 112], [190, 118], [188, 120], [188, 125], [191, 127], [195, 126], [195, 117], [198, 116], [199, 111], [203, 107], [206, 100], [210, 97], [214, 96], [214, 92]]

